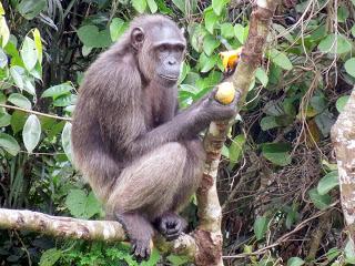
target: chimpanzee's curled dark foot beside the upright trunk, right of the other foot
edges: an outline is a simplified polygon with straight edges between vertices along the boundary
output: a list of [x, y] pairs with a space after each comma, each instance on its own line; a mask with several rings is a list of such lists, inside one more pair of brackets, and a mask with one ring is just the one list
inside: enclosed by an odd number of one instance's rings
[[186, 228], [186, 222], [174, 213], [165, 213], [155, 222], [156, 229], [168, 239], [176, 239]]

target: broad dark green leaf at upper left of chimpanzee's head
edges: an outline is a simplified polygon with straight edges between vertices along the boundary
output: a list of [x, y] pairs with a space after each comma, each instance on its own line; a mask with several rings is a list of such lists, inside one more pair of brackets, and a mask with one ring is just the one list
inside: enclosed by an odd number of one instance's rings
[[99, 31], [99, 28], [93, 24], [80, 27], [78, 37], [88, 48], [106, 48], [112, 43], [110, 30]]

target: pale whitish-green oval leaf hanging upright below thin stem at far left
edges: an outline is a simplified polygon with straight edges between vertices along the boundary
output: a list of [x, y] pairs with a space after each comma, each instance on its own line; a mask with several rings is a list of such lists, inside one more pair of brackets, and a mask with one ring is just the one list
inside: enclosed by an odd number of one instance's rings
[[41, 139], [41, 123], [34, 114], [31, 114], [23, 126], [23, 144], [29, 153], [38, 145]]

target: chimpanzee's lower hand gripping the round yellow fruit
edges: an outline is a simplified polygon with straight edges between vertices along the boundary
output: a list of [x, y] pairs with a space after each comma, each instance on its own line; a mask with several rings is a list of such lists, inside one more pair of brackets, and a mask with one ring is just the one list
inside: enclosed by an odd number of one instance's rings
[[233, 102], [230, 104], [222, 104], [215, 100], [217, 88], [205, 98], [202, 102], [201, 112], [203, 112], [211, 121], [214, 120], [230, 120], [236, 115], [236, 103], [239, 94], [236, 93]]

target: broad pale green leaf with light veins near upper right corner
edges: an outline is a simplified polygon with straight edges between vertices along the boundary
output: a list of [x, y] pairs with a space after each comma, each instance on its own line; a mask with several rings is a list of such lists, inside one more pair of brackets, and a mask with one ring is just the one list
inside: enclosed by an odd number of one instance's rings
[[318, 49], [323, 53], [341, 54], [352, 51], [352, 43], [342, 34], [328, 34], [320, 42]]

